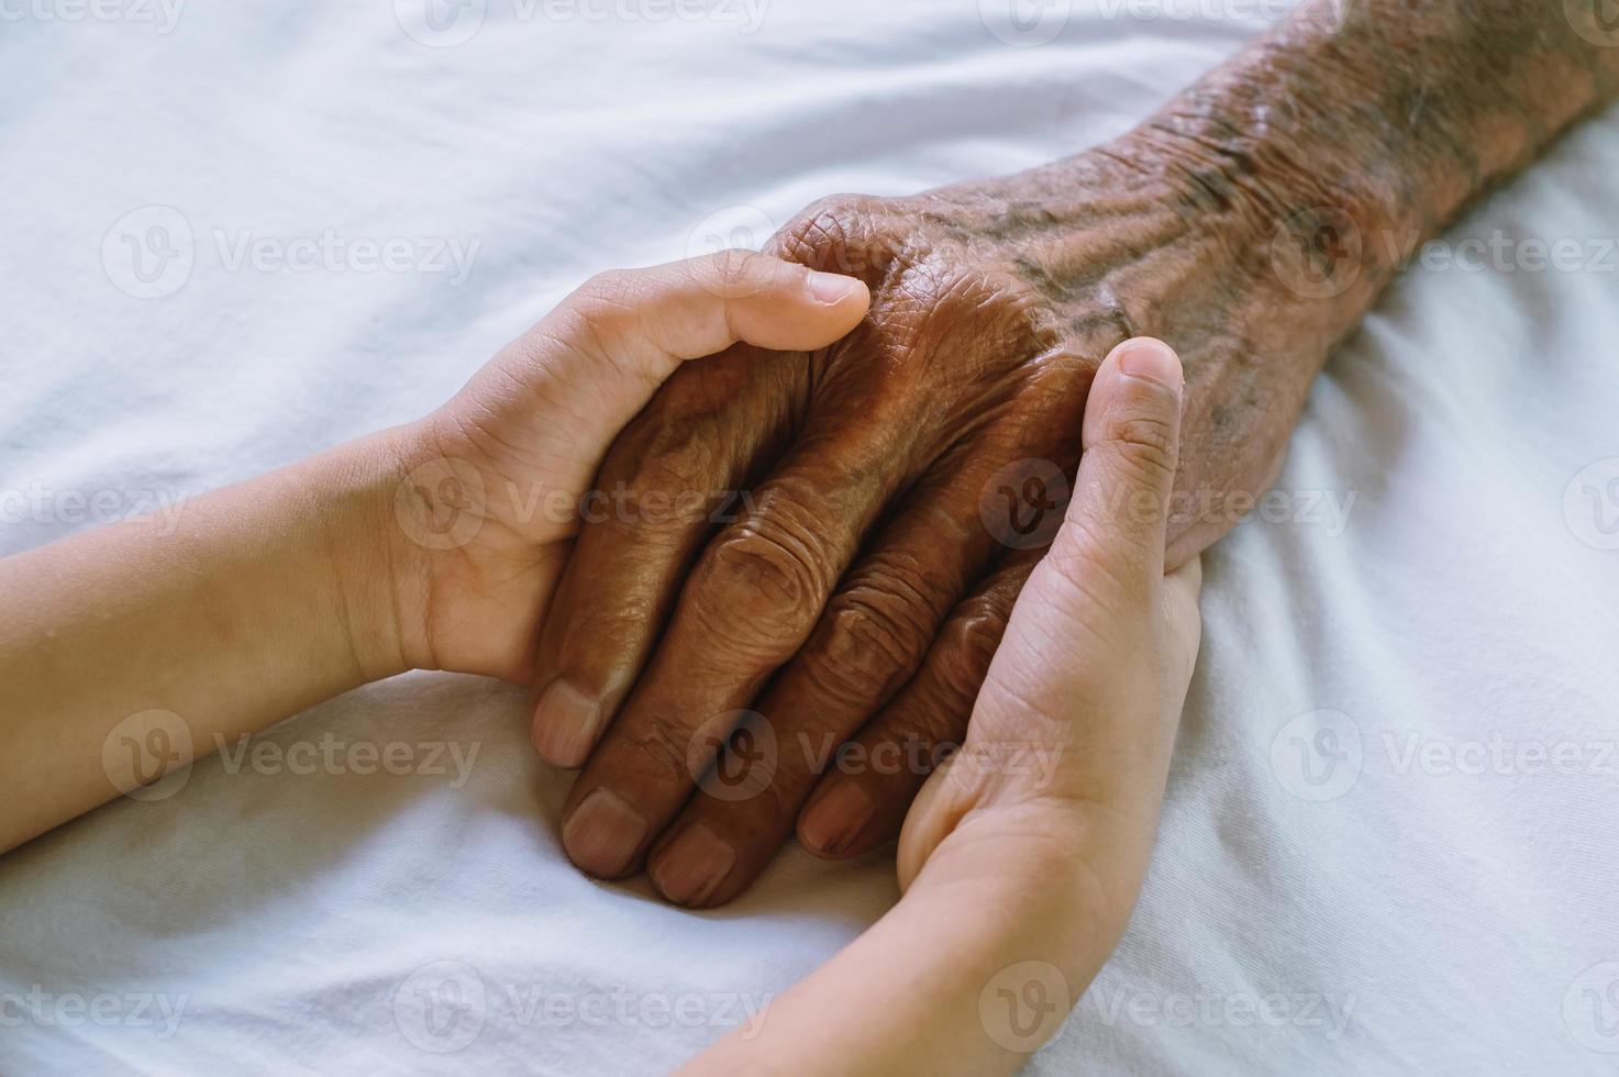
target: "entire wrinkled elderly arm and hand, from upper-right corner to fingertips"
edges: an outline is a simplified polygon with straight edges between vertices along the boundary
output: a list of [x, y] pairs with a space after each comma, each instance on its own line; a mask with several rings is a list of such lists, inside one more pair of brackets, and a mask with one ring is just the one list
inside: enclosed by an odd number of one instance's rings
[[[960, 740], [1035, 564], [979, 521], [991, 476], [1026, 458], [1072, 475], [1101, 358], [1172, 340], [1188, 389], [1169, 564], [1206, 547], [1271, 484], [1311, 379], [1396, 266], [1613, 97], [1603, 6], [1310, 0], [1114, 143], [790, 222], [771, 249], [861, 275], [871, 317], [824, 351], [682, 371], [609, 452], [599, 483], [631, 504], [751, 499], [717, 530], [623, 512], [580, 536], [534, 674], [536, 745], [584, 763], [575, 863], [646, 865], [665, 897], [714, 905], [795, 826], [829, 857], [892, 839], [924, 768], [843, 773], [797, 747], [928, 760]], [[742, 708], [793, 750], [758, 795], [716, 797], [693, 774]]]

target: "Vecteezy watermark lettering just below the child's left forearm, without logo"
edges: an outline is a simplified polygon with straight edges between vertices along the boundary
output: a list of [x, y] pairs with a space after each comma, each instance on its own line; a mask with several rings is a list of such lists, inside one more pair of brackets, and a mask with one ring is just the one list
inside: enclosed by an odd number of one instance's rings
[[327, 730], [317, 740], [236, 737], [235, 747], [223, 734], [214, 734], [214, 747], [227, 774], [419, 774], [450, 777], [450, 789], [460, 789], [473, 774], [482, 743], [473, 740], [342, 740]]

